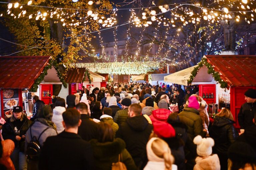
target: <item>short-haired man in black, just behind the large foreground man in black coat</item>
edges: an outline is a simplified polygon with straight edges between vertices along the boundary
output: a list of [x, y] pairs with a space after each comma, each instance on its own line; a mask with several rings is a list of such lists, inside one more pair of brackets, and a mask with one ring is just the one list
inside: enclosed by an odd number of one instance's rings
[[78, 103], [76, 109], [81, 114], [82, 123], [78, 128], [78, 133], [82, 139], [90, 141], [91, 139], [97, 139], [98, 124], [90, 119], [88, 114], [88, 106], [85, 103]]

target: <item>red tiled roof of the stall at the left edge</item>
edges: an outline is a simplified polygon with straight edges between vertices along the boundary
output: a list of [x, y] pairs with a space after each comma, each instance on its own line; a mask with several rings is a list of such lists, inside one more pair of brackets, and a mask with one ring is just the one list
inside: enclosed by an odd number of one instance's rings
[[0, 88], [31, 88], [50, 56], [0, 57]]

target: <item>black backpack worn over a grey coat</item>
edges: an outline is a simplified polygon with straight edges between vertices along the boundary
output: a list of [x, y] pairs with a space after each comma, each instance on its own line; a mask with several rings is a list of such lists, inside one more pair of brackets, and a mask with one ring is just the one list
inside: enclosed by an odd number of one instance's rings
[[27, 145], [27, 158], [29, 160], [38, 160], [39, 159], [39, 155], [40, 155], [40, 151], [41, 151], [41, 145], [39, 143], [39, 139], [41, 137], [41, 135], [49, 128], [45, 128], [38, 136], [38, 139], [36, 138], [36, 136], [32, 137], [32, 133], [31, 133], [31, 128], [30, 127], [30, 136], [31, 136], [31, 140]]

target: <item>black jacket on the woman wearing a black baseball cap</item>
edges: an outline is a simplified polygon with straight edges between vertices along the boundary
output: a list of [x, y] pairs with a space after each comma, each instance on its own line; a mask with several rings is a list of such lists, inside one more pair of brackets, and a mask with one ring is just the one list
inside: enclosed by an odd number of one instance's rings
[[[31, 126], [32, 121], [28, 120], [26, 115], [23, 115], [23, 120], [21, 122], [21, 128], [17, 129], [17, 133], [15, 132], [16, 127], [14, 127], [14, 122], [10, 122], [11, 118], [8, 118], [6, 123], [3, 125], [2, 129], [2, 135], [4, 140], [5, 139], [11, 139], [16, 148], [19, 148], [21, 152], [24, 152], [25, 149], [25, 139], [21, 138], [20, 141], [16, 140], [15, 137], [18, 135], [22, 137], [22, 135], [25, 135], [28, 128]], [[20, 120], [15, 120], [20, 121]]]

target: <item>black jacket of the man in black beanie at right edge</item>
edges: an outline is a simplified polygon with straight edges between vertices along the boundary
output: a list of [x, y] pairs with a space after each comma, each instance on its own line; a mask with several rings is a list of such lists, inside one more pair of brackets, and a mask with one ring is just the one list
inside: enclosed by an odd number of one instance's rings
[[238, 122], [241, 129], [246, 129], [253, 126], [253, 118], [256, 114], [256, 102], [244, 103], [238, 113]]

